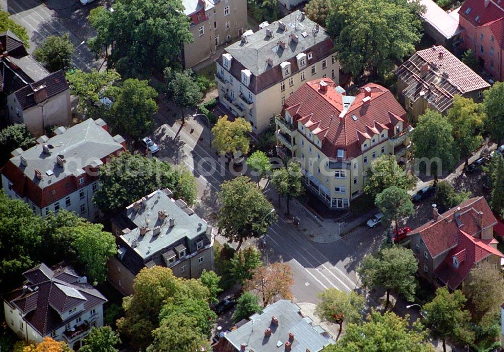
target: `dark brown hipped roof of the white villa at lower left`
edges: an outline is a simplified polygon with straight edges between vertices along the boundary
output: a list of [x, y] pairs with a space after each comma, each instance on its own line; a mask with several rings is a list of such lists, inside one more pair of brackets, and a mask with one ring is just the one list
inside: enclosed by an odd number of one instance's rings
[[26, 323], [42, 336], [65, 326], [82, 311], [76, 311], [66, 320], [61, 319], [61, 313], [80, 304], [87, 311], [107, 302], [85, 277], [69, 266], [51, 270], [42, 263], [26, 271], [24, 276], [27, 279], [24, 287], [5, 294], [4, 299], [11, 307], [19, 309]]

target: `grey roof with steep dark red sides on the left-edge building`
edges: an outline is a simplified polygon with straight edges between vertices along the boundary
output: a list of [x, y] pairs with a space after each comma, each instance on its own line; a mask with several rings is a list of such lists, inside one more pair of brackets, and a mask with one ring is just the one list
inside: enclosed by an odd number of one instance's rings
[[[43, 207], [84, 187], [88, 178], [94, 177], [84, 170], [94, 170], [108, 156], [123, 151], [121, 143], [124, 139], [120, 135], [112, 137], [103, 120], [88, 119], [49, 138], [44, 144], [53, 147], [50, 155], [44, 154], [42, 145], [38, 144], [11, 158], [2, 168], [2, 174], [13, 183], [16, 193]], [[57, 155], [67, 160], [64, 168], [56, 163]], [[21, 157], [26, 160], [26, 166], [21, 163]], [[35, 177], [35, 169], [41, 171], [42, 180]], [[80, 177], [85, 178], [84, 184], [78, 183]]]

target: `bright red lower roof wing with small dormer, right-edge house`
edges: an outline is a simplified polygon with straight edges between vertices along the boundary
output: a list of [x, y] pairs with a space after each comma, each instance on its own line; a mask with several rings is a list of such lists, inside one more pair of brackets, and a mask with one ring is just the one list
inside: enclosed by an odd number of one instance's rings
[[[490, 243], [492, 240], [481, 240], [460, 230], [458, 245], [453, 248], [441, 264], [435, 269], [437, 277], [450, 289], [455, 290], [469, 274], [475, 264], [490, 255], [504, 257]], [[458, 259], [458, 267], [454, 265], [453, 257]]]

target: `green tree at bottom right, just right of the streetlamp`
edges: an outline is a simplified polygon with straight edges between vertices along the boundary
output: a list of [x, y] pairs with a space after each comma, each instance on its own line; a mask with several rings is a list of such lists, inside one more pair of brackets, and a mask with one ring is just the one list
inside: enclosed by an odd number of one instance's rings
[[446, 352], [446, 339], [471, 343], [474, 332], [470, 330], [471, 314], [463, 310], [467, 299], [461, 291], [450, 293], [446, 287], [436, 290], [431, 302], [425, 304], [425, 326], [429, 328], [433, 338], [443, 341], [443, 351]]

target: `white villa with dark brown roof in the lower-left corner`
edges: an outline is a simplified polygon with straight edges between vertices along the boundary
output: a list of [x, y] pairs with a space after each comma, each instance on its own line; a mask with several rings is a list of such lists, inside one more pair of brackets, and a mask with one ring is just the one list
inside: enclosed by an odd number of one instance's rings
[[5, 322], [21, 339], [51, 337], [78, 350], [92, 327], [103, 326], [107, 299], [72, 267], [42, 263], [23, 275], [23, 286], [3, 296]]

